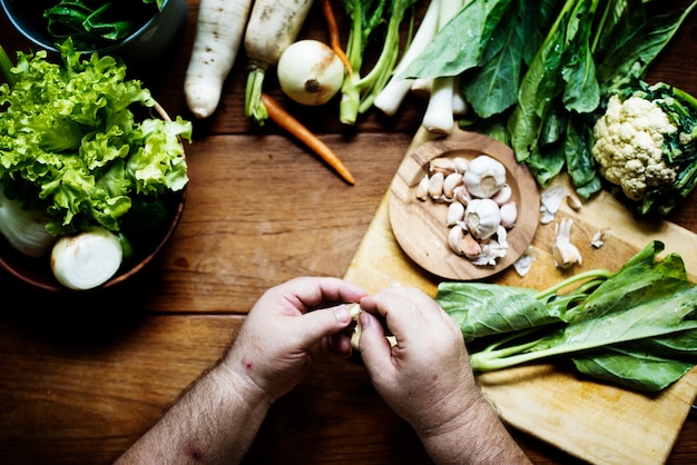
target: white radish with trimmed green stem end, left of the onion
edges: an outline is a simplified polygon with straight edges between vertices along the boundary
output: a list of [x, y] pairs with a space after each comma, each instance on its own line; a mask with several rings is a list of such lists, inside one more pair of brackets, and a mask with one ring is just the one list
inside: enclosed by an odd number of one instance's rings
[[262, 102], [266, 70], [278, 63], [283, 51], [295, 41], [313, 0], [255, 0], [245, 31], [249, 75], [245, 90], [245, 115], [259, 125], [268, 118]]

